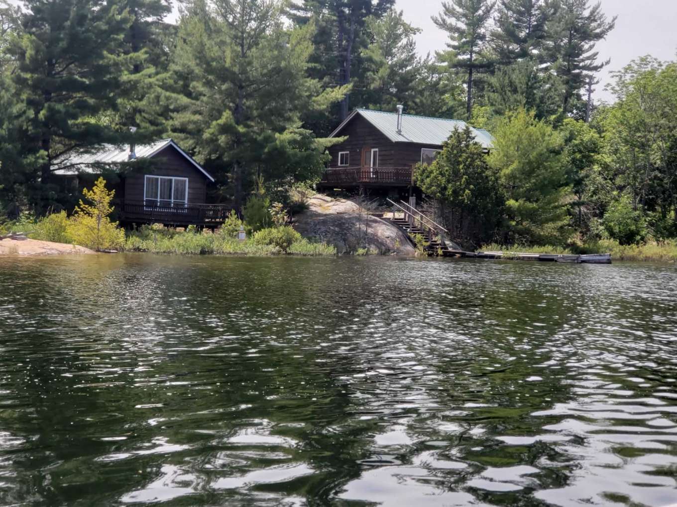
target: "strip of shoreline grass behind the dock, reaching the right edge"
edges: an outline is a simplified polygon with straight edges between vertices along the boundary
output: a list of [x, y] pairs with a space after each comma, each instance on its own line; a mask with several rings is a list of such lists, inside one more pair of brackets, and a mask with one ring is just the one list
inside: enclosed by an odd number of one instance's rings
[[612, 260], [634, 262], [677, 262], [677, 241], [645, 243], [643, 245], [619, 245], [611, 239], [600, 239], [595, 243], [571, 244], [567, 247], [554, 245], [483, 245], [481, 251], [503, 251], [506, 254], [611, 254]]

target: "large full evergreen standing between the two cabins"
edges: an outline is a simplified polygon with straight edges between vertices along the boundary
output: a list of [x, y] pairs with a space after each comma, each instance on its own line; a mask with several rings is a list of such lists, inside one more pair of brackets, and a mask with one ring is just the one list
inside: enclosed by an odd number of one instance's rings
[[169, 126], [238, 210], [258, 177], [280, 178], [279, 160], [269, 153], [309, 150], [315, 171], [322, 168], [324, 145], [308, 142], [313, 136], [299, 128], [301, 113], [326, 110], [345, 93], [323, 92], [306, 77], [314, 26], [287, 30], [282, 7], [269, 0], [200, 1], [179, 24]]

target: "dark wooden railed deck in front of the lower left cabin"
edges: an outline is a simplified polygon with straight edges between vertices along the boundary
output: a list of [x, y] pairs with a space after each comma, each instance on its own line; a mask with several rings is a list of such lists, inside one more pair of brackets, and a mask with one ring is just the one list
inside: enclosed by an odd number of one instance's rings
[[124, 201], [118, 205], [118, 217], [124, 223], [171, 226], [195, 225], [217, 228], [228, 216], [230, 206], [223, 204], [188, 204], [185, 206], [157, 206], [143, 201]]

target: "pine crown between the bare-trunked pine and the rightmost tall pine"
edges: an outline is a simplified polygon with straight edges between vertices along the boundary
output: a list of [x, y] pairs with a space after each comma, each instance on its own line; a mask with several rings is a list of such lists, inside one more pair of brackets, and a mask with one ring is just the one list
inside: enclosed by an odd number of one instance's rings
[[498, 61], [510, 65], [540, 56], [551, 11], [548, 0], [499, 0], [492, 31]]

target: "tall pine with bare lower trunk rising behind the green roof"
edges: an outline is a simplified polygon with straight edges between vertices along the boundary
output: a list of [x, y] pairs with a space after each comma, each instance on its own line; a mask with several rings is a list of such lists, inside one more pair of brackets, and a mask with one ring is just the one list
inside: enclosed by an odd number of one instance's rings
[[496, 1], [451, 0], [442, 2], [443, 10], [433, 16], [433, 22], [449, 34], [447, 43], [456, 56], [454, 68], [467, 72], [466, 115], [473, 116], [473, 86], [475, 72], [492, 66], [487, 41], [487, 22], [491, 18]]

